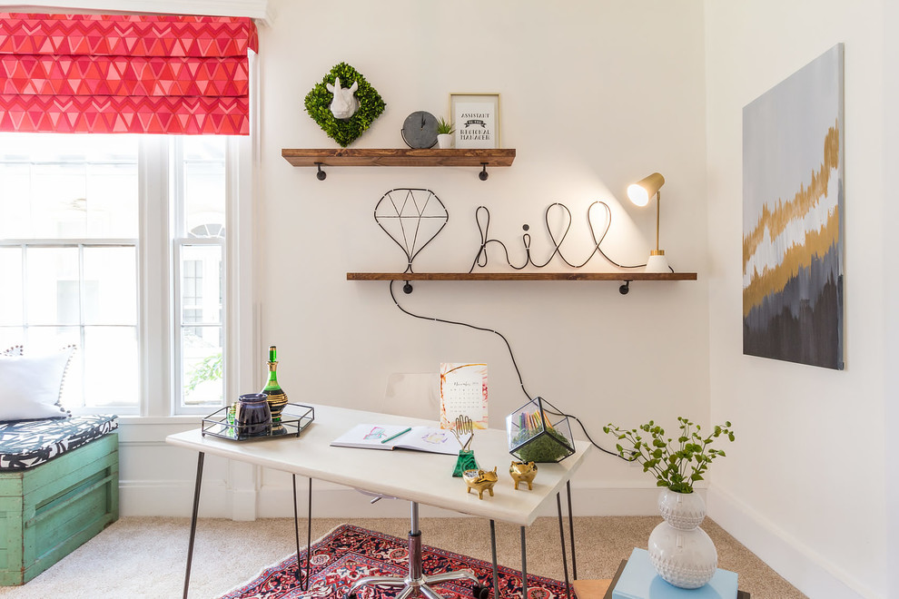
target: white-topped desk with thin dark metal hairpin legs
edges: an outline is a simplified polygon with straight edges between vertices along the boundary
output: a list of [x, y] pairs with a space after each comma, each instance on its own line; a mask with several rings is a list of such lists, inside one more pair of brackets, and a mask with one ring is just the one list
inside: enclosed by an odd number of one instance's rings
[[[347, 408], [307, 405], [315, 409], [315, 420], [301, 432], [300, 437], [232, 441], [208, 435], [203, 437], [199, 428], [166, 437], [168, 443], [200, 453], [193, 505], [191, 554], [193, 554], [193, 534], [203, 476], [204, 454], [227, 457], [255, 466], [274, 468], [293, 475], [317, 478], [381, 495], [395, 496], [427, 506], [488, 518], [491, 521], [509, 522], [522, 527], [521, 537], [524, 541], [524, 526], [534, 522], [540, 509], [553, 496], [556, 496], [558, 504], [558, 493], [563, 486], [568, 485], [571, 476], [592, 448], [586, 441], [576, 441], [576, 452], [571, 457], [558, 464], [538, 465], [533, 490], [528, 491], [526, 487], [519, 486], [519, 490], [516, 491], [509, 476], [509, 462], [513, 457], [509, 455], [505, 430], [495, 428], [478, 430], [471, 445], [478, 464], [485, 470], [492, 470], [493, 466], [497, 466], [499, 474], [499, 482], [494, 486], [495, 496], [485, 494], [483, 499], [479, 499], [476, 493], [466, 492], [465, 483], [461, 478], [451, 476], [453, 466], [456, 464], [455, 456], [402, 449], [380, 451], [330, 445], [333, 439], [340, 437], [357, 424], [438, 426], [436, 422]], [[568, 509], [570, 526], [570, 493]], [[561, 526], [560, 506], [558, 515]], [[524, 553], [525, 549], [522, 546], [523, 569]], [[184, 581], [185, 597], [189, 584], [191, 556], [188, 556]]]

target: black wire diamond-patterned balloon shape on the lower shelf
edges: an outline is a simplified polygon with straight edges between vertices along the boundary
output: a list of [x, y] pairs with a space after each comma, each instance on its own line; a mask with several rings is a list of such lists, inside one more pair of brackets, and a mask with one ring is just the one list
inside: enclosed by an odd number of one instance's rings
[[385, 193], [375, 206], [375, 221], [406, 254], [403, 272], [450, 220], [450, 212], [430, 190], [399, 188]]

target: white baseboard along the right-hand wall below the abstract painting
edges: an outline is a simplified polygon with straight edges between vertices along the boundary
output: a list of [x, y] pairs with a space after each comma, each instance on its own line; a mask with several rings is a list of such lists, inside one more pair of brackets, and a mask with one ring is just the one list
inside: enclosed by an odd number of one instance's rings
[[710, 488], [707, 507], [708, 517], [805, 595], [885, 599], [726, 491]]

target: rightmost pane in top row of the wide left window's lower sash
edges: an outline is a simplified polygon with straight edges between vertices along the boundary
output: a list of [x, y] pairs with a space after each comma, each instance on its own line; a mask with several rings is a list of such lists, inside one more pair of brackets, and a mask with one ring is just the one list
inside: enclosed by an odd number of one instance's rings
[[85, 324], [137, 324], [134, 248], [84, 248], [84, 287]]

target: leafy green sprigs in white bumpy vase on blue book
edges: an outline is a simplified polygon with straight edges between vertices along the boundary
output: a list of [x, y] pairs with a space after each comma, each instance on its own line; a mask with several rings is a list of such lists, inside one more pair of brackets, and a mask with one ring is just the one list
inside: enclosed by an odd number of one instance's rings
[[699, 527], [706, 517], [706, 504], [693, 492], [693, 484], [703, 480], [712, 460], [726, 456], [723, 450], [710, 447], [712, 443], [718, 437], [729, 441], [735, 437], [730, 422], [714, 427], [707, 435], [685, 417], [677, 417], [677, 422], [677, 441], [666, 437], [665, 429], [652, 420], [630, 430], [611, 423], [602, 430], [617, 437], [619, 456], [642, 464], [644, 472], [656, 477], [656, 485], [665, 487], [658, 497], [658, 511], [665, 521], [649, 535], [649, 561], [667, 583], [695, 589], [715, 575], [718, 554], [712, 539]]

